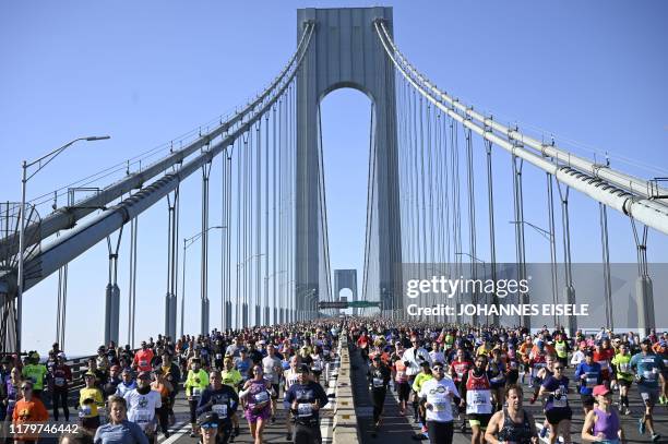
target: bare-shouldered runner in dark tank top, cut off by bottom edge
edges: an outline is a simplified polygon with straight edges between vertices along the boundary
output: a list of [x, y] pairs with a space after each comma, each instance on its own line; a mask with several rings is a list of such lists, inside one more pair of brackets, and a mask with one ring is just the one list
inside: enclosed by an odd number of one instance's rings
[[505, 398], [508, 407], [491, 417], [485, 432], [485, 440], [490, 444], [538, 443], [534, 417], [522, 407], [522, 387], [509, 385], [505, 389]]

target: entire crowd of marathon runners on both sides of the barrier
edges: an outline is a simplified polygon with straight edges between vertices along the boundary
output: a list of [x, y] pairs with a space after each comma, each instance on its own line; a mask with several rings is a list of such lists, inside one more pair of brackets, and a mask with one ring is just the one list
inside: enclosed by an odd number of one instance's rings
[[[288, 442], [319, 443], [319, 410], [329, 403], [325, 388], [341, 335], [368, 362], [377, 430], [392, 389], [399, 415], [421, 427], [415, 437], [431, 443], [449, 444], [455, 429], [470, 428], [472, 444], [535, 443], [538, 436], [550, 444], [561, 436], [568, 444], [573, 432], [585, 441], [623, 444], [620, 417], [630, 415], [637, 416], [641, 434], [660, 439], [654, 415], [668, 404], [666, 333], [640, 338], [601, 328], [569, 337], [562, 329], [532, 335], [523, 328], [382, 319], [214, 331], [177, 340], [158, 335], [136, 350], [111, 343], [88, 359], [83, 381], [73, 380], [58, 344], [46, 360], [35, 351], [24, 359], [5, 356], [0, 421], [15, 427], [20, 442], [37, 435], [16, 427], [47, 420], [79, 425], [74, 434], [63, 429], [63, 442], [155, 442], [158, 431], [169, 436], [180, 396], [188, 400], [191, 436], [201, 442], [234, 442], [247, 421], [260, 444], [266, 424], [278, 420]], [[643, 411], [631, 411], [632, 389]], [[540, 418], [524, 409], [524, 393], [530, 404], [542, 404]], [[571, 407], [574, 396], [582, 411]], [[582, 430], [572, 430], [574, 416], [584, 418]]]

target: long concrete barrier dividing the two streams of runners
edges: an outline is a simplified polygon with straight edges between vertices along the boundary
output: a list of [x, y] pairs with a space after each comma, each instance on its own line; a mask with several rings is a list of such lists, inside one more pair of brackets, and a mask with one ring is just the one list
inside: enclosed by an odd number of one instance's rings
[[336, 380], [336, 408], [334, 409], [332, 442], [334, 444], [358, 444], [360, 436], [353, 400], [347, 334], [342, 332], [341, 336], [341, 367]]

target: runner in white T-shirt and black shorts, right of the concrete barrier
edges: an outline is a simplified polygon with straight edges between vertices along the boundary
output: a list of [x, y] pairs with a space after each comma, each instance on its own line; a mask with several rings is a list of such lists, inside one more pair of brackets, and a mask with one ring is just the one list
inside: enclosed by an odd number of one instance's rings
[[422, 383], [419, 396], [426, 399], [427, 430], [430, 443], [451, 444], [453, 436], [452, 401], [458, 398], [457, 387], [445, 374], [441, 362], [431, 369], [433, 380]]

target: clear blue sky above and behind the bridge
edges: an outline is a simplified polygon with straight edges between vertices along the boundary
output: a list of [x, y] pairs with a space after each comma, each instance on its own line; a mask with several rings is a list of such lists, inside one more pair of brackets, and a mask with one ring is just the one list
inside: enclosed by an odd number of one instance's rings
[[[20, 200], [20, 165], [71, 139], [110, 134], [80, 145], [29, 183], [49, 192], [169, 142], [244, 104], [282, 69], [296, 45], [296, 9], [375, 2], [5, 1], [0, 5], [0, 199]], [[546, 129], [558, 140], [617, 153], [668, 169], [668, 3], [631, 1], [401, 1], [396, 43], [439, 86], [505, 122]], [[337, 91], [323, 101], [323, 137], [332, 268], [359, 269], [366, 211], [369, 101]], [[570, 145], [573, 146], [573, 145]], [[573, 146], [574, 147], [574, 146]], [[575, 147], [574, 147], [575, 148]], [[578, 153], [587, 154], [580, 148]], [[508, 156], [497, 160], [510, 167]], [[659, 172], [612, 165], [639, 176]], [[506, 168], [510, 169], [510, 168]], [[214, 170], [212, 179], [218, 172]], [[663, 176], [666, 176], [665, 173]], [[526, 180], [540, 176], [527, 173]], [[501, 182], [510, 185], [510, 177]], [[481, 183], [482, 180], [480, 180]], [[534, 182], [536, 183], [536, 182]], [[542, 182], [538, 182], [542, 183]], [[542, 185], [540, 185], [542, 187]], [[181, 233], [199, 231], [199, 180], [188, 196]], [[501, 189], [502, 190], [502, 189]], [[217, 191], [212, 194], [215, 201]], [[528, 187], [526, 218], [545, 226], [542, 188]], [[510, 194], [498, 197], [500, 226], [512, 218]], [[480, 194], [484, 199], [484, 194]], [[61, 202], [60, 204], [64, 204]], [[219, 212], [212, 204], [212, 225]], [[46, 212], [48, 206], [43, 209]], [[573, 196], [574, 261], [598, 261], [597, 206]], [[612, 215], [613, 261], [635, 260], [628, 219]], [[138, 337], [163, 327], [166, 205], [143, 216], [138, 281]], [[500, 228], [501, 237], [509, 227]], [[218, 235], [212, 235], [217, 242]], [[527, 233], [528, 259], [547, 260], [541, 238]], [[121, 341], [126, 339], [127, 238], [121, 247]], [[158, 252], [152, 253], [152, 252]], [[215, 251], [215, 250], [213, 250]], [[667, 262], [666, 236], [652, 231], [651, 261]], [[500, 245], [512, 259], [512, 243]], [[70, 267], [67, 349], [87, 352], [103, 338], [106, 245]], [[153, 254], [153, 256], [151, 256]], [[486, 251], [481, 249], [480, 255]], [[194, 254], [193, 254], [194, 255]], [[148, 256], [151, 256], [150, 260]], [[212, 254], [212, 269], [218, 257]], [[189, 261], [195, 274], [199, 264]], [[211, 278], [212, 326], [219, 319]], [[199, 280], [189, 279], [187, 329], [195, 332]], [[655, 295], [666, 307], [665, 296]], [[27, 293], [24, 337], [45, 350], [55, 336], [56, 279]]]

